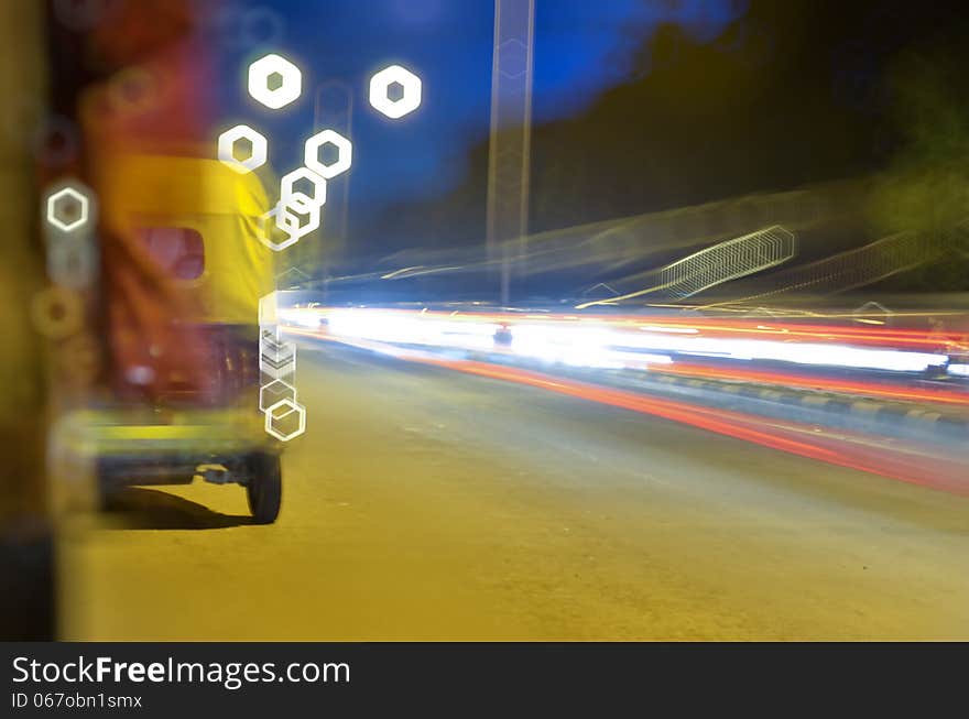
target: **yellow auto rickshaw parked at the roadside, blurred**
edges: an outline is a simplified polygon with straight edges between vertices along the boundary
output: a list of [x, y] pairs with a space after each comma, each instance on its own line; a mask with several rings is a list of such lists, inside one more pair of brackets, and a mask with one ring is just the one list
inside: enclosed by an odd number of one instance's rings
[[259, 408], [260, 299], [274, 290], [261, 182], [216, 160], [133, 152], [94, 179], [110, 359], [102, 392], [53, 427], [53, 494], [89, 503], [200, 476], [241, 484], [254, 521], [274, 522], [282, 443]]

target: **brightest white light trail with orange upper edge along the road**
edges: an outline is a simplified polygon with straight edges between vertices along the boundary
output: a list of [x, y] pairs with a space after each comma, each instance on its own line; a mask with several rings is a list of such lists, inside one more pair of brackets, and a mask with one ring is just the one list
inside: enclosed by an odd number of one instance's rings
[[[948, 351], [963, 342], [918, 330], [840, 328], [818, 325], [723, 323], [642, 316], [514, 315], [440, 311], [328, 308], [288, 309], [287, 322], [318, 326], [334, 335], [401, 344], [487, 350], [501, 331], [498, 351], [589, 367], [668, 362], [669, 357], [771, 361], [791, 366], [847, 368], [899, 373], [941, 369]], [[664, 359], [651, 359], [664, 358]]]

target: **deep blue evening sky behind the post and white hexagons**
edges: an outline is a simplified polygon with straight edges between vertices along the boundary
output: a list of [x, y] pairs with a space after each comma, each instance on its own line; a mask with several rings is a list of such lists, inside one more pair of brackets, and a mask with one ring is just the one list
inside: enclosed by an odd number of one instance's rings
[[[733, 0], [536, 0], [533, 115], [535, 122], [581, 111], [625, 80], [643, 34], [676, 21], [711, 40], [741, 11]], [[247, 11], [249, 14], [247, 15]], [[467, 150], [488, 133], [493, 40], [491, 0], [259, 0], [235, 3], [222, 25], [226, 123], [246, 121], [270, 139], [281, 174], [300, 164], [313, 131], [313, 88], [346, 83], [353, 94], [352, 211], [446, 192], [461, 179]], [[240, 18], [263, 19], [268, 42], [239, 43]], [[304, 94], [274, 112], [249, 100], [244, 69], [277, 52], [303, 69]], [[424, 83], [423, 106], [398, 121], [367, 102], [370, 75], [404, 65]]]

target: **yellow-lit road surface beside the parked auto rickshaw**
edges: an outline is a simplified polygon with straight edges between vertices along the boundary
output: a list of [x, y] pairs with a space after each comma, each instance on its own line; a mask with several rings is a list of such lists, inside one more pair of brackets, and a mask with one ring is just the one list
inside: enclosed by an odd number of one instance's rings
[[128, 490], [65, 639], [969, 639], [966, 498], [336, 345], [296, 381], [279, 523]]

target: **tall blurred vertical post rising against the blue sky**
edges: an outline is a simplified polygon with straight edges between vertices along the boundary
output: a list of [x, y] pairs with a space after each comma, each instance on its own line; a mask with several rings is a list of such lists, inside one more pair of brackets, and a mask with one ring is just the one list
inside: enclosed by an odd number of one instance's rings
[[491, 138], [488, 157], [488, 258], [501, 261], [501, 304], [529, 229], [534, 0], [494, 0]]

